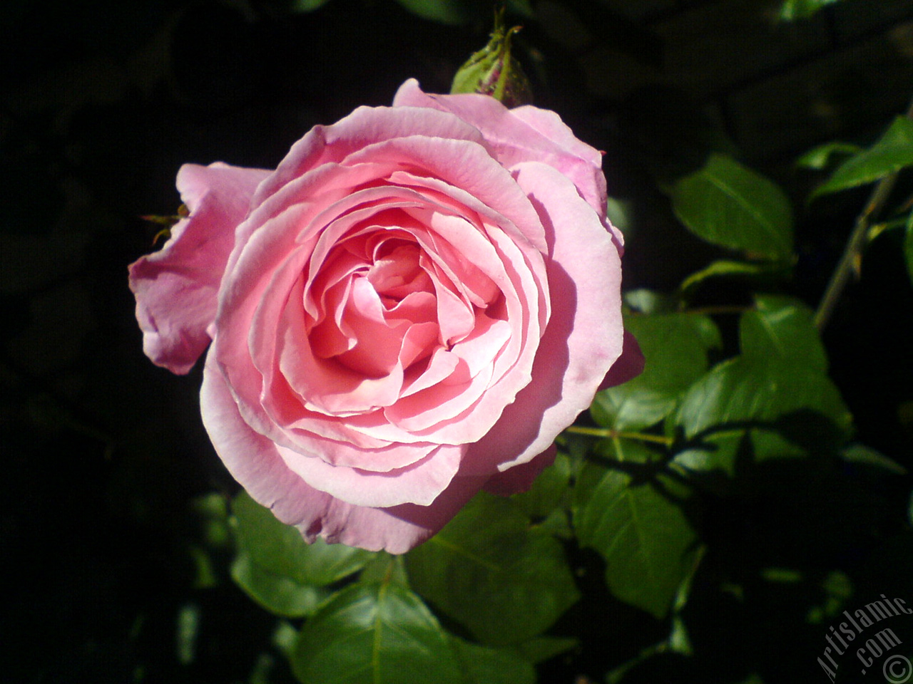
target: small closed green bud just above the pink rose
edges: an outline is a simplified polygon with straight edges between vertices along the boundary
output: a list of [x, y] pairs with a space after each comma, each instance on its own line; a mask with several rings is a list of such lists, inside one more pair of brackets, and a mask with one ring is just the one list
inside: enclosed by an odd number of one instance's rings
[[495, 11], [495, 28], [488, 45], [466, 64], [459, 67], [450, 87], [451, 94], [481, 93], [503, 102], [505, 107], [517, 107], [532, 102], [530, 79], [526, 78], [519, 62], [510, 54], [510, 38], [519, 26], [505, 30], [504, 6]]

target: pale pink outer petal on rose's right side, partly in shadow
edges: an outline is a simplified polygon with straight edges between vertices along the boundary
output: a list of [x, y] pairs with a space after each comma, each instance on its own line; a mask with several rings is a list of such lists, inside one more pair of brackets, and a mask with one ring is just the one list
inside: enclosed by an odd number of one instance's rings
[[467, 461], [484, 469], [487, 454], [507, 471], [551, 446], [590, 406], [622, 354], [621, 261], [611, 233], [572, 182], [545, 164], [520, 164], [520, 187], [540, 210], [550, 243], [552, 315], [540, 340], [532, 381]]

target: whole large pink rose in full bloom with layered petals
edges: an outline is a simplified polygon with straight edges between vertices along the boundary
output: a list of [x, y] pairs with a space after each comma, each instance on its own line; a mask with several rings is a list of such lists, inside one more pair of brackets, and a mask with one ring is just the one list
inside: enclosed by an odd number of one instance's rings
[[640, 371], [601, 161], [551, 111], [409, 80], [276, 171], [186, 165], [190, 216], [131, 265], [145, 351], [184, 373], [211, 339], [237, 481], [309, 541], [403, 553]]

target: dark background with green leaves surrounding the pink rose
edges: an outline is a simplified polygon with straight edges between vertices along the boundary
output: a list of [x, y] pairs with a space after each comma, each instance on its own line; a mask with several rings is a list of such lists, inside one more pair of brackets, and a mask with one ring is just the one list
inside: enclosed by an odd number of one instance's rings
[[394, 558], [307, 546], [236, 491], [199, 371], [142, 356], [125, 264], [181, 163], [269, 167], [405, 78], [446, 92], [490, 4], [4, 5], [7, 679], [807, 682], [842, 611], [913, 600], [913, 8], [507, 9], [537, 104], [605, 150], [647, 369], [530, 492]]

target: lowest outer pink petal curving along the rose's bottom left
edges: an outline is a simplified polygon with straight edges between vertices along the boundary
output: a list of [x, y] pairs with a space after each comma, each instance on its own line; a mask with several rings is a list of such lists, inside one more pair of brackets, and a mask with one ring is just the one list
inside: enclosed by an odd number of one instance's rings
[[200, 405], [206, 431], [228, 471], [255, 501], [283, 523], [298, 527], [309, 542], [320, 536], [328, 542], [404, 554], [441, 529], [486, 480], [457, 477], [430, 506], [355, 506], [314, 489], [289, 470], [276, 445], [241, 418], [225, 378], [208, 358]]

